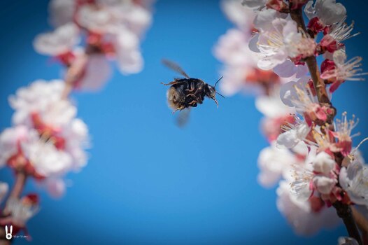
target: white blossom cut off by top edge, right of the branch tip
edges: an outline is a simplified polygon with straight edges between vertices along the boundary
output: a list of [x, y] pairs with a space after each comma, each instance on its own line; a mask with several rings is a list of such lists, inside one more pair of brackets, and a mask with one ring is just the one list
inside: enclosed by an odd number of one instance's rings
[[346, 18], [346, 8], [336, 0], [316, 0], [306, 3], [304, 13], [309, 18], [318, 18], [322, 25], [332, 25]]

